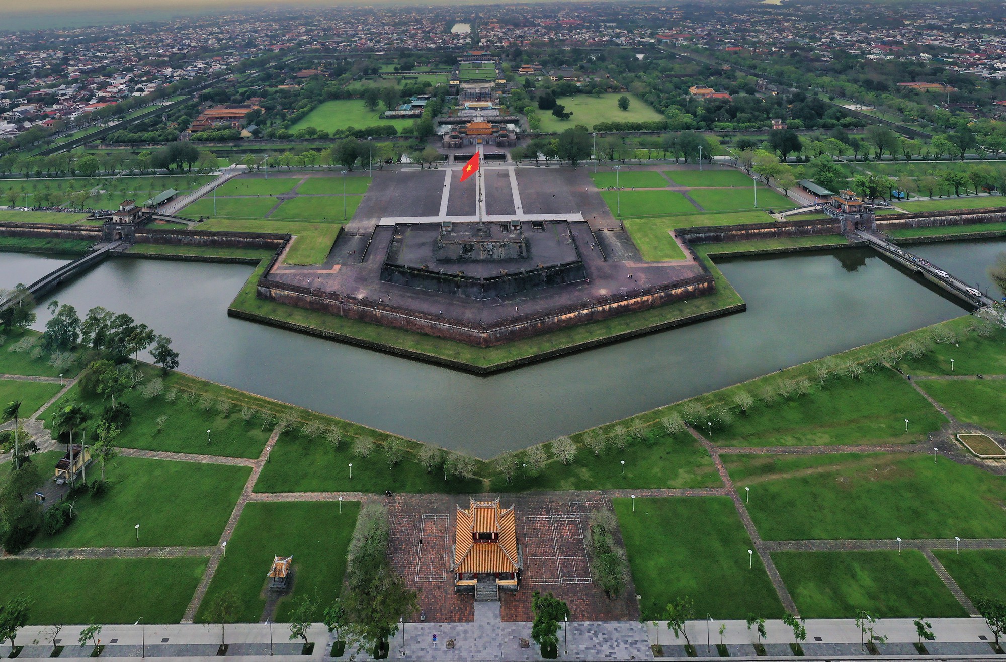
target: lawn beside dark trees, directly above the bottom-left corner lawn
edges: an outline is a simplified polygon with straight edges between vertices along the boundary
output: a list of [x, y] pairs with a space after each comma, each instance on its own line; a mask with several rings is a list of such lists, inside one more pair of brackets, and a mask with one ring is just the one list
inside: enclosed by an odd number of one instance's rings
[[[92, 480], [101, 469], [93, 465]], [[94, 473], [92, 473], [94, 472]], [[214, 545], [247, 481], [248, 467], [119, 458], [108, 492], [76, 498], [76, 516], [36, 547]], [[140, 524], [137, 542], [135, 524]]]

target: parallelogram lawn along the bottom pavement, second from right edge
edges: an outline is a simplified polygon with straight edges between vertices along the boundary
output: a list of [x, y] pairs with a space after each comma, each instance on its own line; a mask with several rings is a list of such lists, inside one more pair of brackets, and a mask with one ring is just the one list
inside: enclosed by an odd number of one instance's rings
[[967, 612], [921, 552], [786, 551], [772, 554], [800, 615], [853, 619], [959, 618]]

